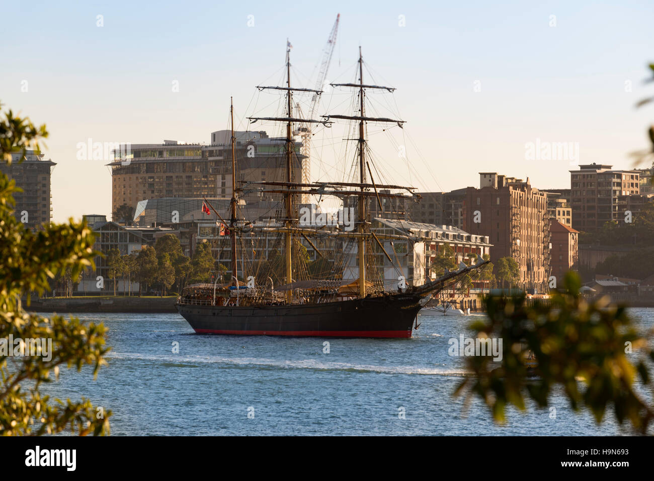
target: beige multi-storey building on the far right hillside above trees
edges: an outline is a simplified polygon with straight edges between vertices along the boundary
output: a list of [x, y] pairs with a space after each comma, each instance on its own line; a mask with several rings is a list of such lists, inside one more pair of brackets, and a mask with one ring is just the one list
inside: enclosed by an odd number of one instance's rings
[[644, 203], [640, 195], [640, 172], [611, 170], [612, 165], [591, 163], [570, 171], [572, 227], [594, 232], [606, 222], [624, 225], [629, 210], [640, 212]]

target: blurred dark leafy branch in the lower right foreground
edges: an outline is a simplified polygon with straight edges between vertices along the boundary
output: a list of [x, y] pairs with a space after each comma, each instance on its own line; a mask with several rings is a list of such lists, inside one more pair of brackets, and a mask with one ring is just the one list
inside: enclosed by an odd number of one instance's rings
[[[606, 297], [589, 302], [579, 294], [580, 287], [579, 276], [568, 273], [550, 305], [530, 306], [524, 295], [487, 297], [488, 319], [471, 327], [478, 339], [502, 339], [502, 361], [467, 357], [472, 376], [455, 395], [465, 394], [466, 406], [472, 397], [481, 398], [502, 423], [506, 406], [526, 410], [525, 399], [530, 398], [544, 408], [560, 386], [574, 410], [587, 408], [600, 423], [612, 406], [619, 423], [628, 420], [645, 433], [654, 408], [642, 391], [645, 385], [651, 389], [654, 352], [624, 306], [611, 305]], [[526, 362], [530, 353], [536, 358], [535, 371]]]

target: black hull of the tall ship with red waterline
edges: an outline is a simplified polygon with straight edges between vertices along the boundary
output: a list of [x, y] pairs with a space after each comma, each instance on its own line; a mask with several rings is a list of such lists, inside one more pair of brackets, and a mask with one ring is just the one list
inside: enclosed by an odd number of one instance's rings
[[200, 334], [411, 337], [421, 296], [383, 295], [330, 303], [258, 306], [177, 304]]

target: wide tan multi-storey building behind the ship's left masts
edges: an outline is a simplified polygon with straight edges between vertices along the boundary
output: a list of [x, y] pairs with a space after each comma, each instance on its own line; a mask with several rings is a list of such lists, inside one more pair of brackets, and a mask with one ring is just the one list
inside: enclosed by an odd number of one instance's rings
[[[216, 131], [205, 144], [129, 144], [113, 151], [112, 212], [122, 205], [136, 209], [139, 201], [162, 197], [232, 197], [231, 131]], [[235, 132], [237, 186], [242, 182], [286, 180], [285, 139], [265, 131]], [[308, 160], [295, 142], [292, 178], [308, 181]], [[264, 194], [252, 186], [241, 195], [247, 201], [279, 201], [280, 194]], [[114, 219], [116, 220], [116, 219]]]

